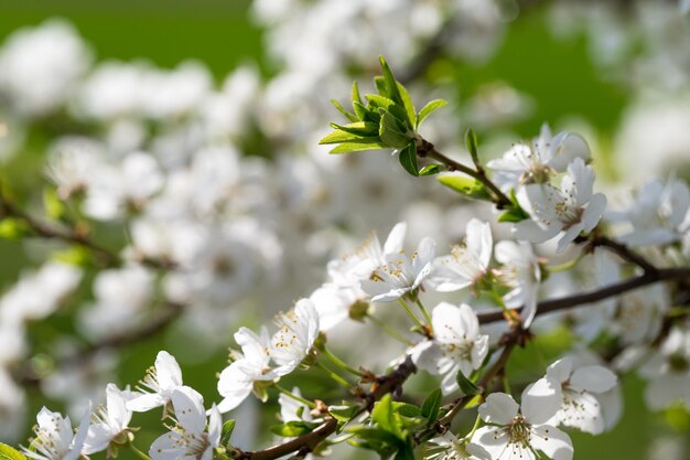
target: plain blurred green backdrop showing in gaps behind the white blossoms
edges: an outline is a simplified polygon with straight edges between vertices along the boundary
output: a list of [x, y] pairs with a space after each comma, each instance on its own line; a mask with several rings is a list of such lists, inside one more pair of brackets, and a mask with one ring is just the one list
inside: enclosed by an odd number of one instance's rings
[[[194, 58], [206, 64], [217, 81], [238, 63], [252, 61], [258, 62], [268, 75], [274, 68], [262, 51], [262, 31], [252, 24], [248, 7], [246, 0], [0, 0], [0, 42], [21, 26], [60, 17], [76, 26], [93, 46], [98, 61], [143, 57], [162, 67], [174, 67], [181, 61]], [[559, 41], [549, 33], [545, 17], [545, 11], [536, 8], [514, 21], [499, 51], [487, 63], [445, 62], [434, 72], [442, 77], [452, 77], [461, 97], [473, 95], [482, 84], [492, 81], [507, 82], [531, 96], [536, 103], [532, 116], [515, 126], [524, 138], [535, 136], [543, 121], [558, 127], [564, 117], [578, 115], [589, 120], [605, 142], [615, 130], [630, 94], [625, 87], [597, 75], [584, 36]], [[376, 50], [371, 52], [376, 54]], [[344, 94], [347, 90], [343, 88]], [[605, 152], [597, 153], [601, 157]], [[30, 159], [23, 157], [17, 161], [20, 167], [23, 163], [22, 181], [33, 182], [32, 178], [39, 181], [40, 171], [33, 168]], [[12, 254], [19, 254], [12, 250], [12, 244], [3, 242], [0, 250], [3, 255], [0, 284], [8, 287], [23, 261], [12, 257]], [[40, 327], [47, 328], [41, 331], [44, 336], [51, 334], [47, 325]], [[54, 327], [60, 329], [60, 319]], [[174, 330], [168, 334], [174, 334]], [[145, 367], [152, 364], [155, 352], [164, 346], [164, 336], [160, 334], [126, 350], [120, 383], [140, 378]], [[542, 346], [543, 354], [552, 354], [549, 343]], [[181, 357], [185, 382], [207, 396], [215, 395], [213, 376], [224, 366], [225, 353], [216, 353], [202, 366], [185, 365], [184, 356]], [[517, 363], [533, 365], [533, 360], [535, 355], [526, 351]], [[613, 432], [596, 438], [571, 432], [575, 459], [647, 458], [647, 447], [656, 438], [664, 416], [646, 411], [642, 404], [643, 387], [634, 378], [626, 381], [625, 413]], [[39, 404], [42, 402], [32, 400], [33, 406]], [[150, 421], [155, 417], [149, 414]], [[670, 417], [678, 428], [688, 429], [687, 416], [672, 414]], [[157, 431], [142, 432], [141, 445], [157, 435]], [[128, 454], [123, 452], [122, 457]]]

